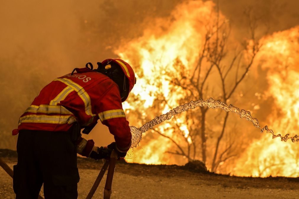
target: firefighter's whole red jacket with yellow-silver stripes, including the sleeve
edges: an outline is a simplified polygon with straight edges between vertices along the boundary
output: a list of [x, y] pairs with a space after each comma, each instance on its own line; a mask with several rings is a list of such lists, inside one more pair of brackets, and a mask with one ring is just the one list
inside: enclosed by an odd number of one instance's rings
[[117, 84], [87, 68], [76, 71], [54, 79], [39, 92], [13, 135], [21, 129], [67, 131], [74, 122], [87, 127], [100, 119], [114, 135], [118, 149], [127, 151], [132, 135]]

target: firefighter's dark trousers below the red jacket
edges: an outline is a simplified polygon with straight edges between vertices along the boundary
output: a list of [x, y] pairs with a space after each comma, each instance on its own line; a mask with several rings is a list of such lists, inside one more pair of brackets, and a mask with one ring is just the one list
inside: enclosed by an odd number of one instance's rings
[[18, 163], [13, 166], [16, 199], [38, 198], [44, 183], [45, 199], [77, 198], [79, 173], [74, 132], [21, 130]]

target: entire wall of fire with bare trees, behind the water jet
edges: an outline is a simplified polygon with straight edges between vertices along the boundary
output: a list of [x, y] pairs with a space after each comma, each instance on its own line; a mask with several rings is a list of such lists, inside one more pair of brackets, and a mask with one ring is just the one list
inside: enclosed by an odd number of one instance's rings
[[[141, 126], [180, 104], [213, 97], [247, 109], [256, 118], [261, 115], [262, 123], [276, 133], [295, 135], [299, 28], [257, 38], [257, 19], [250, 10], [245, 15], [249, 34], [240, 43], [215, 4], [190, 1], [116, 50], [138, 75], [134, 96], [124, 104], [129, 121]], [[126, 160], [147, 164], [201, 160], [213, 172], [297, 177], [297, 145], [259, 135], [229, 112], [200, 107], [147, 132]]]

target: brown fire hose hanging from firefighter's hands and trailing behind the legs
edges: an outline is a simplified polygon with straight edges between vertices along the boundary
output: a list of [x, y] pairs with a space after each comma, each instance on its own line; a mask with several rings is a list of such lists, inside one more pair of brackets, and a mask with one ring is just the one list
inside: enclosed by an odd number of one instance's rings
[[[108, 173], [107, 173], [107, 178], [106, 178], [106, 184], [105, 184], [105, 189], [104, 189], [104, 199], [110, 199], [110, 195], [112, 193], [111, 188], [112, 188], [112, 180], [113, 180], [113, 174], [115, 170], [115, 164], [118, 156], [117, 153], [113, 150], [109, 160], [107, 160], [102, 169], [100, 170], [99, 175], [97, 176], [97, 179], [94, 181], [93, 186], [91, 187], [86, 199], [91, 199], [92, 196], [94, 195], [95, 191], [97, 190], [97, 187], [99, 186], [106, 170], [108, 168]], [[0, 166], [4, 169], [5, 172], [7, 172], [10, 177], [13, 178], [13, 170], [0, 158]], [[38, 196], [38, 199], [44, 199], [41, 195]]]

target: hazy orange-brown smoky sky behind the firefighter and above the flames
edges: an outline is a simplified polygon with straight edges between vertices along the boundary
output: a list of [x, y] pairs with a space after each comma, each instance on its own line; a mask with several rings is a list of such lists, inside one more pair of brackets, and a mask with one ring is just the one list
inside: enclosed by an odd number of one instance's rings
[[[115, 58], [113, 50], [142, 36], [154, 27], [154, 18], [170, 16], [184, 0], [91, 0], [91, 1], [7, 1], [0, 6], [0, 148], [15, 148], [19, 116], [52, 79], [96, 63]], [[299, 1], [219, 0], [220, 11], [230, 19], [242, 39], [246, 34], [244, 10], [251, 9], [265, 32], [285, 30], [299, 24]], [[99, 125], [98, 145], [113, 137]]]

